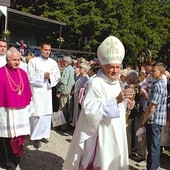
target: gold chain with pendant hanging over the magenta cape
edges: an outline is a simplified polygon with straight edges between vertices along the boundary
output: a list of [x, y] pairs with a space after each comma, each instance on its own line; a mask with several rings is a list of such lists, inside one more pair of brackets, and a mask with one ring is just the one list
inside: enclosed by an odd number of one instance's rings
[[22, 79], [22, 76], [21, 76], [21, 73], [20, 73], [19, 69], [17, 69], [17, 71], [18, 71], [18, 74], [19, 74], [19, 84], [16, 84], [13, 81], [13, 79], [10, 76], [7, 68], [5, 67], [5, 72], [6, 72], [6, 75], [7, 75], [7, 78], [8, 78], [8, 82], [9, 82], [9, 85], [10, 85], [11, 89], [13, 91], [18, 91], [18, 95], [21, 95], [21, 93], [24, 90], [24, 82], [23, 82], [23, 79]]

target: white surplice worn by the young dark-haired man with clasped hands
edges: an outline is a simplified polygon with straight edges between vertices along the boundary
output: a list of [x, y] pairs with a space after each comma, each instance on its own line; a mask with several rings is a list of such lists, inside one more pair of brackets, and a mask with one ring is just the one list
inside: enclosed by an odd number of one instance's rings
[[[50, 82], [49, 80], [44, 79], [45, 72], [50, 73]], [[43, 119], [43, 122], [45, 122], [45, 117], [47, 117], [46, 124], [49, 124], [49, 115], [52, 115], [53, 113], [52, 87], [56, 86], [60, 76], [60, 70], [57, 62], [51, 58], [43, 59], [41, 57], [36, 57], [29, 61], [28, 78], [31, 83], [33, 93], [32, 101], [35, 108], [35, 112], [32, 114], [30, 121], [30, 126], [35, 126], [33, 117], [35, 117], [35, 120], [39, 117], [39, 121], [41, 121], [40, 119]], [[51, 124], [48, 126], [49, 133], [50, 128]], [[49, 135], [46, 134], [44, 138]]]

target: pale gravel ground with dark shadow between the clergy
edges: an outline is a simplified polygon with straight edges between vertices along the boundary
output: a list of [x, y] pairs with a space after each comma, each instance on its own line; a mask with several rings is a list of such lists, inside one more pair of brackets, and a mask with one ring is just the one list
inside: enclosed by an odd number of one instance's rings
[[[27, 138], [24, 155], [17, 170], [61, 170], [71, 139], [72, 132], [63, 133], [51, 130], [50, 142], [42, 143], [42, 146], [37, 150]], [[170, 157], [162, 155], [161, 162], [159, 170], [170, 170]], [[2, 168], [0, 169], [2, 170]], [[130, 160], [130, 170], [145, 169], [145, 167], [136, 166], [136, 162]]]

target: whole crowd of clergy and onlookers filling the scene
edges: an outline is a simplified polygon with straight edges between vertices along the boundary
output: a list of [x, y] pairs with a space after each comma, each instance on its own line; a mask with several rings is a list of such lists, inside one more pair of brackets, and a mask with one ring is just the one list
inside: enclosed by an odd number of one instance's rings
[[[163, 128], [170, 128], [170, 73], [153, 59], [123, 67], [125, 48], [115, 36], [97, 49], [98, 60], [41, 55], [22, 57], [0, 39], [0, 163], [15, 169], [29, 135], [35, 148], [48, 143], [51, 116], [62, 111], [61, 131], [74, 131], [63, 170], [128, 170], [129, 158], [160, 162]], [[140, 133], [137, 135], [136, 132]]]

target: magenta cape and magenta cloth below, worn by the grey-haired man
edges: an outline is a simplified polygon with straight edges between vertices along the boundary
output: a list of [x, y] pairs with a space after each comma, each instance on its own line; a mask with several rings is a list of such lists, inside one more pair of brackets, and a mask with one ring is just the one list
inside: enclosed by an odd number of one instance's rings
[[[7, 75], [6, 69], [10, 76]], [[31, 102], [32, 93], [27, 74], [24, 70], [20, 68], [18, 69], [19, 70], [11, 69], [7, 65], [0, 68], [0, 107], [22, 109], [28, 106]], [[11, 77], [11, 79], [9, 77]], [[21, 92], [21, 94], [18, 94], [18, 90], [14, 91], [15, 89], [17, 89], [14, 83], [20, 85], [21, 79], [23, 81], [23, 91]], [[13, 89], [11, 88], [11, 86]], [[6, 142], [7, 138], [1, 138], [1, 140]], [[10, 146], [14, 155], [18, 155], [19, 157], [22, 155], [23, 143], [24, 136], [10, 138]], [[8, 146], [8, 143], [6, 143], [6, 146]]]

